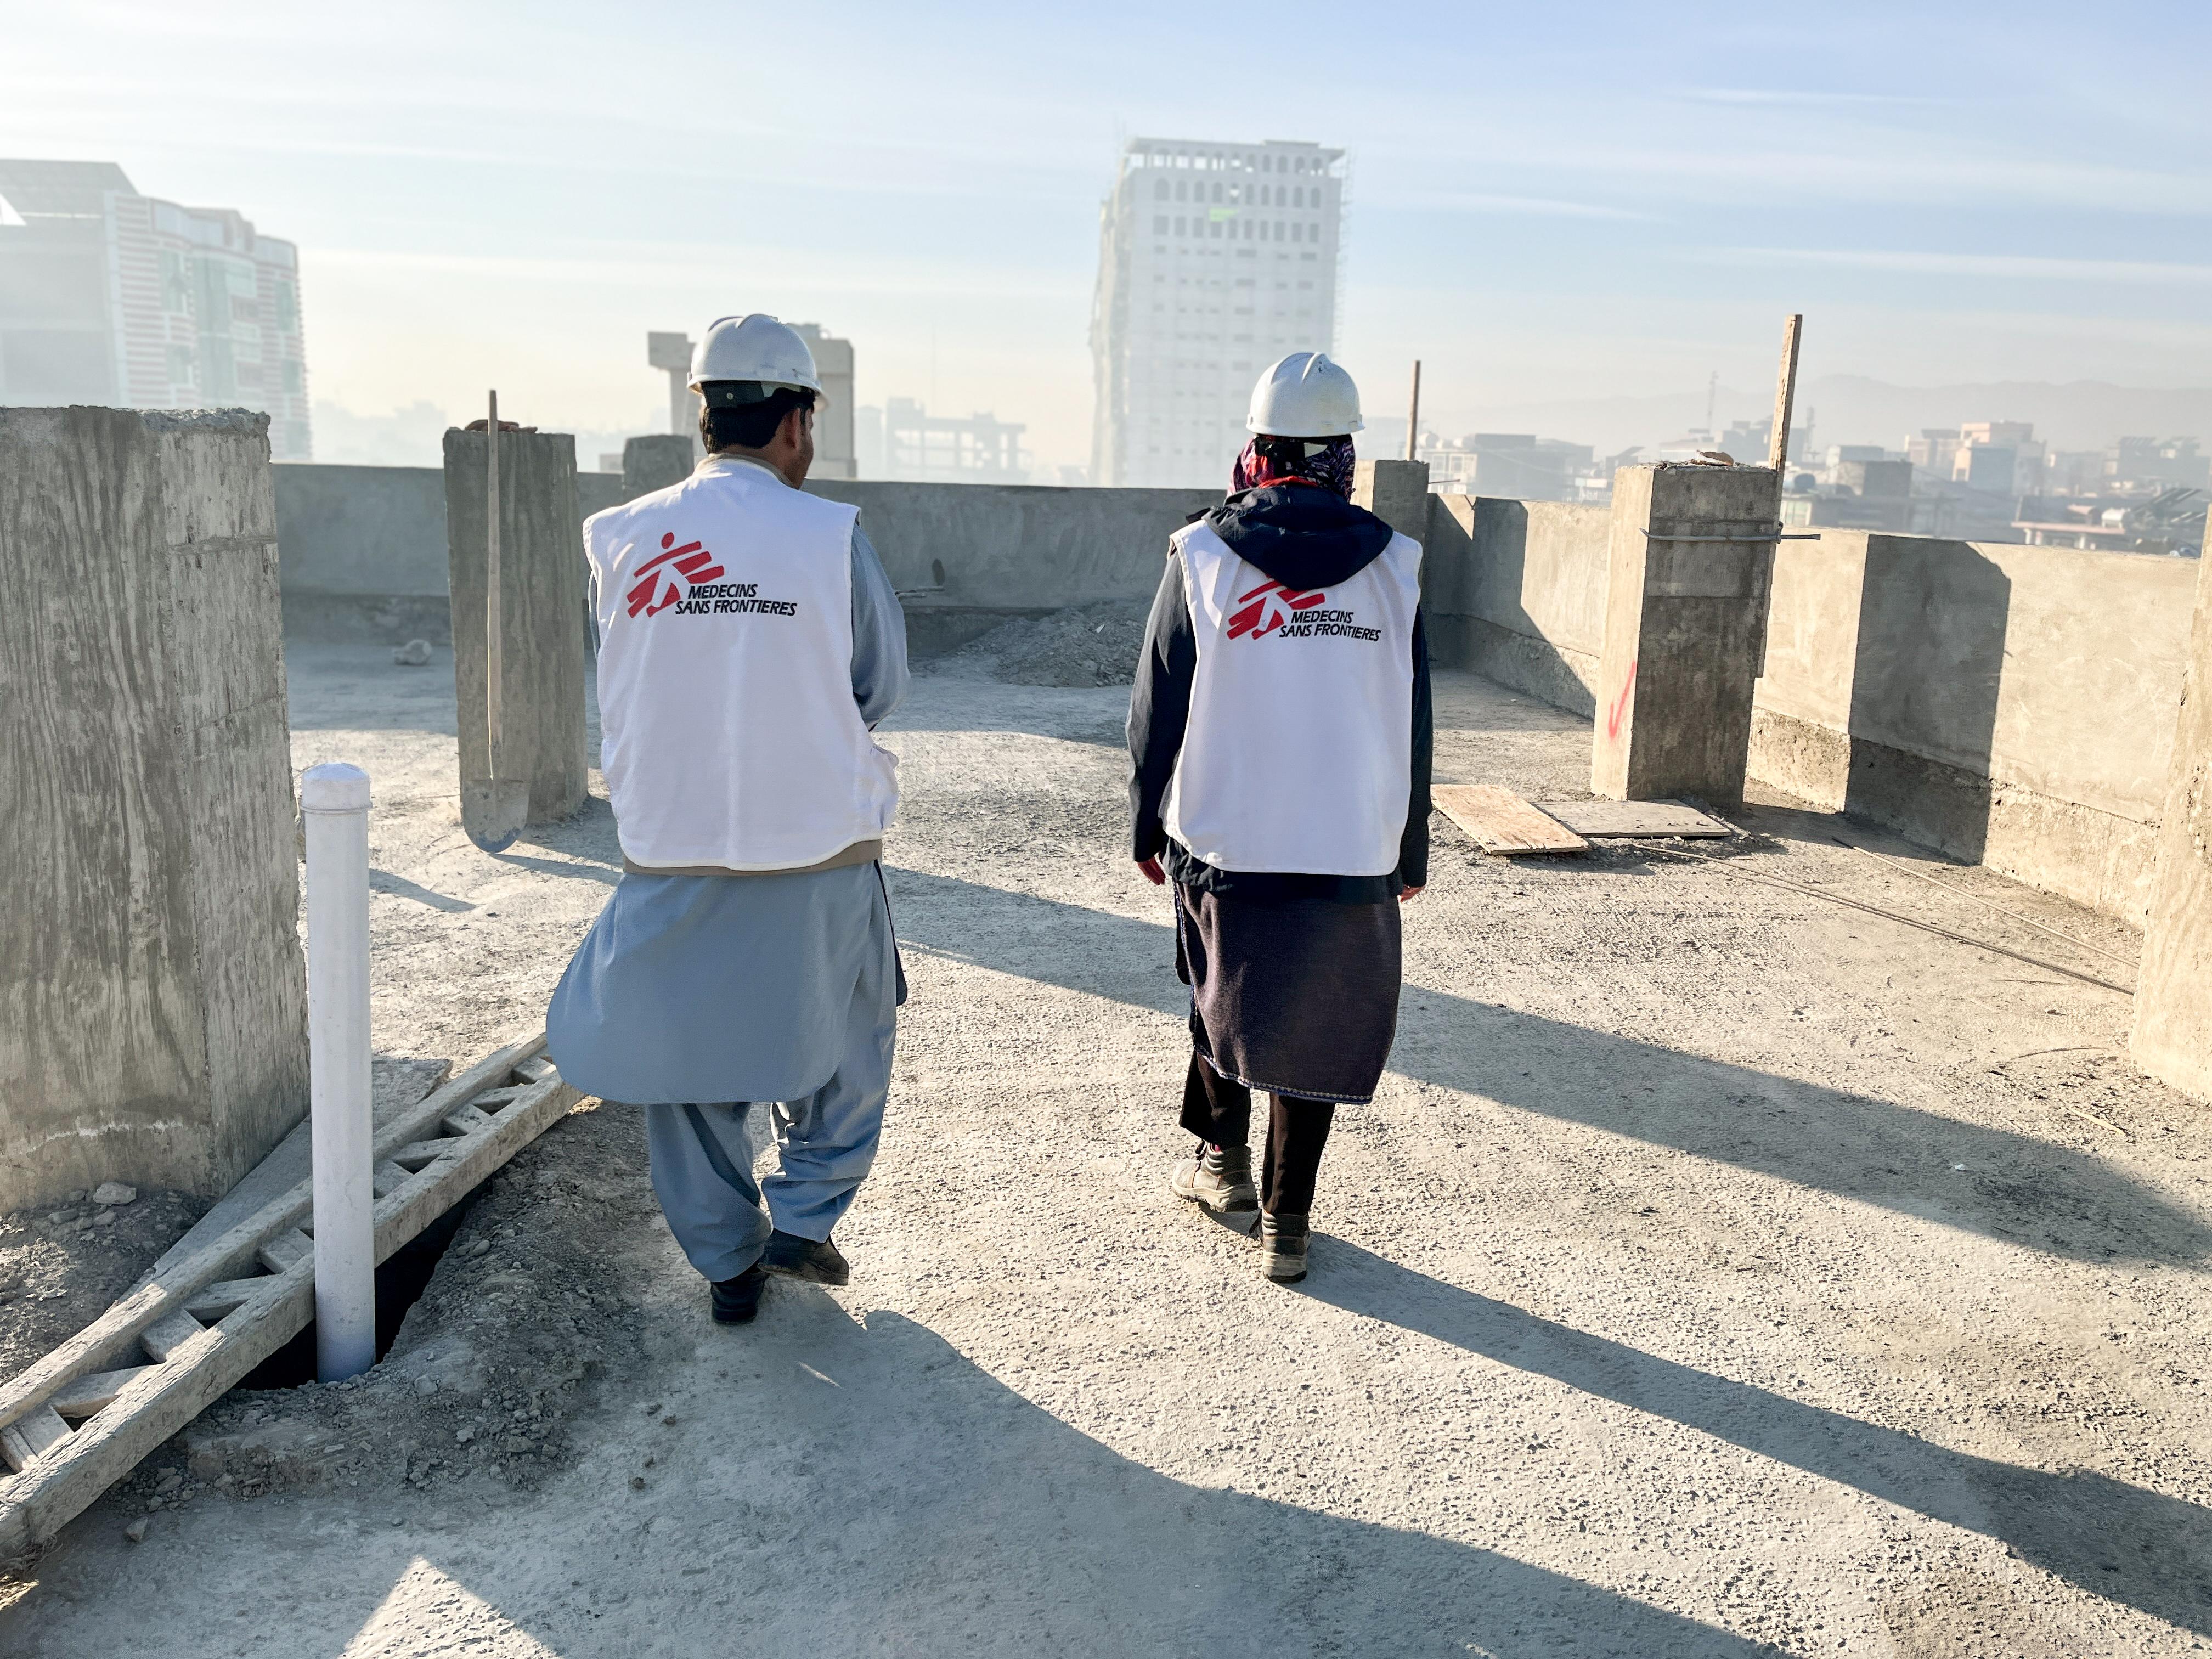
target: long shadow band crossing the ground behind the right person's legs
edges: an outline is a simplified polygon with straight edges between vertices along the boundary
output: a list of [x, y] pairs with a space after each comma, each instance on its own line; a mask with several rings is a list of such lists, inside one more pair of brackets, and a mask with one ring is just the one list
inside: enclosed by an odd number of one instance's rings
[[[889, 878], [905, 940], [1139, 1009], [1188, 1009], [1161, 922], [953, 876]], [[1407, 987], [1391, 1071], [2055, 1256], [2212, 1254], [2194, 1214], [2073, 1148], [1447, 991]]]

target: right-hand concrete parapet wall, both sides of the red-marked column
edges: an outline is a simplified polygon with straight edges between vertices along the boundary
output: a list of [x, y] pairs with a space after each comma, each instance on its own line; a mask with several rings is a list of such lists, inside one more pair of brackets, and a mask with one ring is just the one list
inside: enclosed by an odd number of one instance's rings
[[[1750, 772], [2141, 925], [2201, 560], [1781, 542]], [[1606, 511], [1438, 495], [1436, 659], [1593, 714]]]

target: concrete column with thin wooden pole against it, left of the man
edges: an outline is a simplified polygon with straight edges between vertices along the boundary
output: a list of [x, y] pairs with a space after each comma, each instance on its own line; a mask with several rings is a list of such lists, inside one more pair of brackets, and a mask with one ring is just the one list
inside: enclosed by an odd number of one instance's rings
[[[489, 783], [484, 714], [484, 434], [445, 434], [445, 531], [453, 595], [460, 781]], [[584, 544], [575, 438], [500, 434], [500, 774], [531, 785], [531, 823], [584, 805]]]

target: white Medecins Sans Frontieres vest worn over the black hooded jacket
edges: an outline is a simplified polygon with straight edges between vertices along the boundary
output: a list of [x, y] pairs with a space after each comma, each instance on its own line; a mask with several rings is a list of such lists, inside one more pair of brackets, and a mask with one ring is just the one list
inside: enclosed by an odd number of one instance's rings
[[1420, 542], [1296, 593], [1201, 520], [1175, 535], [1199, 641], [1166, 827], [1217, 869], [1387, 876], [1413, 774]]

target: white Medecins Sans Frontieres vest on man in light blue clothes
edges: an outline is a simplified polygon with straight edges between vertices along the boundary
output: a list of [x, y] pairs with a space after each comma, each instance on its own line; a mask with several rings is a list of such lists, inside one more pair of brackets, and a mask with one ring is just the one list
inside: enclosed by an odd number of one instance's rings
[[898, 761], [852, 699], [856, 520], [710, 458], [584, 522], [602, 765], [633, 865], [803, 869], [891, 825]]

